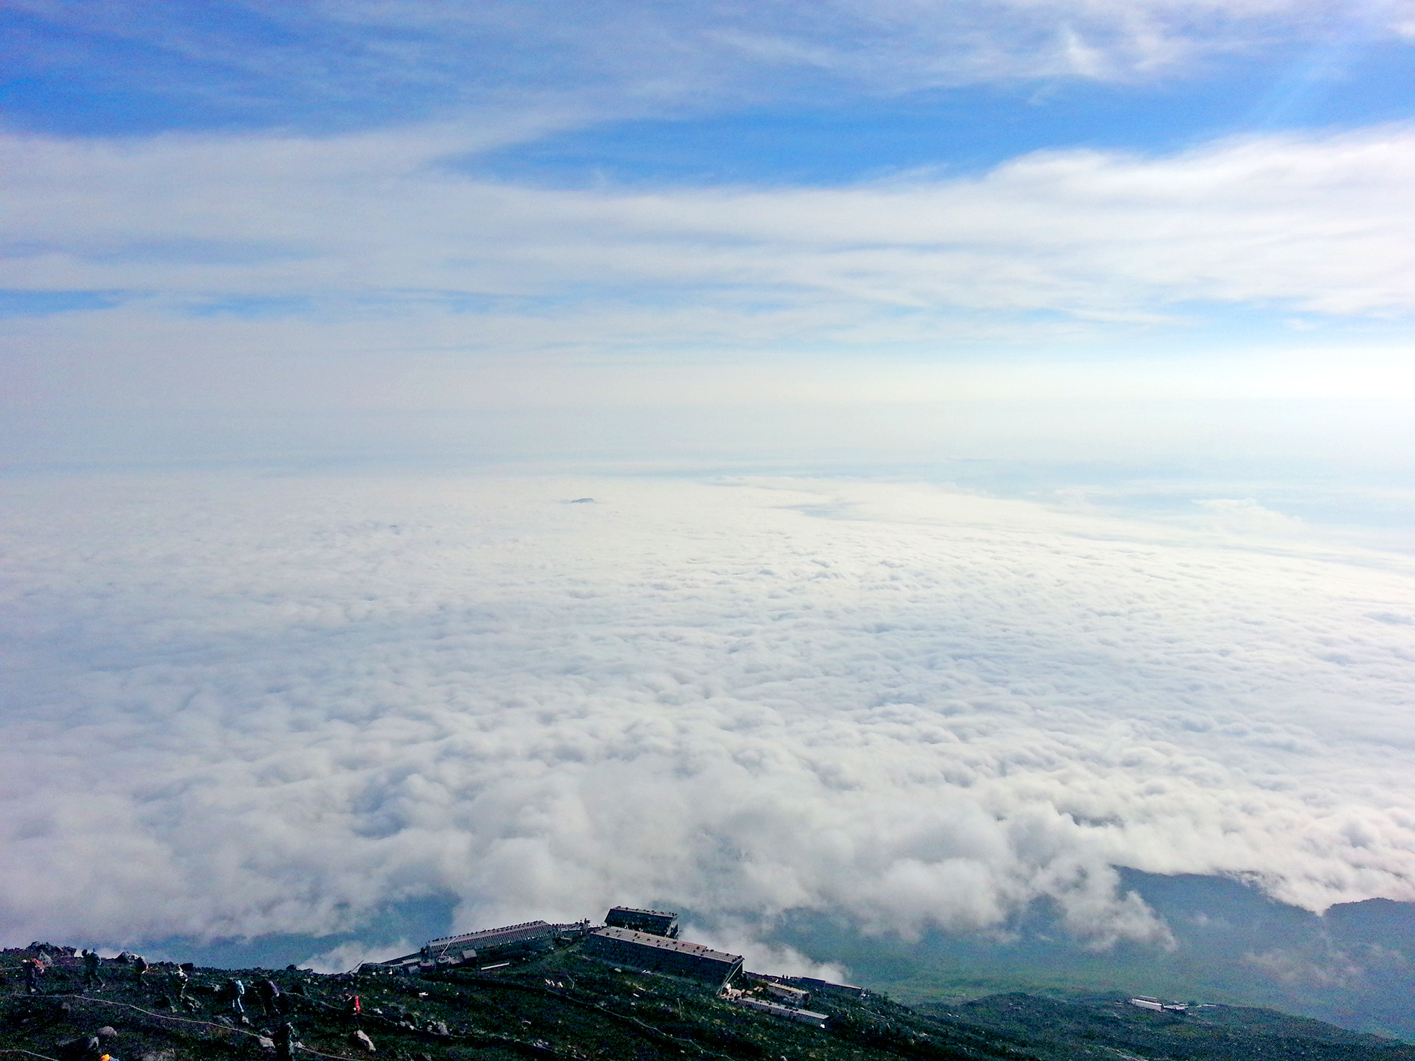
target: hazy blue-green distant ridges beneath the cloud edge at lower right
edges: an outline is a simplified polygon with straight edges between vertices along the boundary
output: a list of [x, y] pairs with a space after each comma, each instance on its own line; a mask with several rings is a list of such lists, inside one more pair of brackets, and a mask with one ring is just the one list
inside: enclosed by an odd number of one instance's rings
[[1166, 995], [1415, 1041], [1415, 904], [1373, 898], [1317, 915], [1221, 877], [1122, 877], [1165, 918], [1176, 949], [1087, 951], [1046, 904], [1006, 925], [1002, 942], [938, 932], [917, 944], [862, 938], [808, 915], [788, 918], [778, 939], [818, 961], [843, 961], [860, 980], [911, 1003], [1013, 989]]

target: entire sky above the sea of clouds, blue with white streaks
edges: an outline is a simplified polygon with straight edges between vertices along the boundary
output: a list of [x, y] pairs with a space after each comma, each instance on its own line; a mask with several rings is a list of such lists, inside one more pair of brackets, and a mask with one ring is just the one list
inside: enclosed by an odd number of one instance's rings
[[[1033, 400], [1019, 365], [1067, 398], [1412, 392], [1408, 3], [0, 21], [7, 392], [50, 426]], [[812, 365], [836, 382], [761, 389]]]

